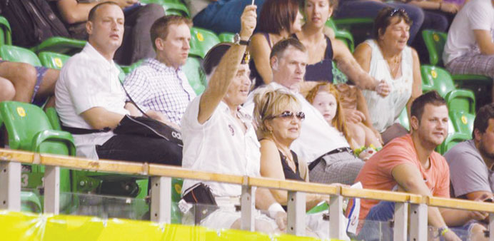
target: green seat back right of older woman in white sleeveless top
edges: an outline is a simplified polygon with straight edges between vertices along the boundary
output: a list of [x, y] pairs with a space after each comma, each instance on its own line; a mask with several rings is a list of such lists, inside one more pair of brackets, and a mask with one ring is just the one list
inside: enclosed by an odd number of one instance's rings
[[433, 66], [444, 66], [443, 51], [446, 40], [448, 39], [448, 34], [428, 29], [422, 31], [422, 37], [425, 42], [425, 47], [429, 52], [429, 63]]

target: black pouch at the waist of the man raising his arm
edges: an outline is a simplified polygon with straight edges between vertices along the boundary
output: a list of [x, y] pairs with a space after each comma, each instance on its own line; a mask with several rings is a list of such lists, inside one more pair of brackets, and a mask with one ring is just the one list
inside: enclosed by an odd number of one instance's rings
[[214, 199], [211, 188], [204, 183], [197, 183], [186, 190], [183, 200], [194, 204], [194, 222], [196, 225], [201, 223], [205, 217], [218, 209], [218, 204]]

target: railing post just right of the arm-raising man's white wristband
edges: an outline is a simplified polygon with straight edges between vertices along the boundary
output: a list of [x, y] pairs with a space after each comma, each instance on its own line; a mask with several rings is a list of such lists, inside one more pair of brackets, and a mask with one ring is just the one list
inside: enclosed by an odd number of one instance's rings
[[288, 191], [288, 233], [306, 235], [306, 193]]

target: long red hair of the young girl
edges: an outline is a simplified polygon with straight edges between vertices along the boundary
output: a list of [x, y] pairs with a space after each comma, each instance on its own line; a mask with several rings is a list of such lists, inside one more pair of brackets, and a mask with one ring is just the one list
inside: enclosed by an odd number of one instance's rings
[[306, 99], [309, 103], [313, 103], [317, 94], [321, 91], [326, 91], [327, 93], [331, 93], [336, 99], [336, 115], [331, 121], [331, 125], [333, 125], [337, 130], [339, 130], [343, 135], [345, 135], [348, 143], [352, 142], [352, 136], [346, 127], [345, 115], [343, 113], [343, 107], [340, 103], [340, 92], [333, 86], [332, 83], [318, 83], [316, 86], [311, 88], [310, 91], [305, 95]]

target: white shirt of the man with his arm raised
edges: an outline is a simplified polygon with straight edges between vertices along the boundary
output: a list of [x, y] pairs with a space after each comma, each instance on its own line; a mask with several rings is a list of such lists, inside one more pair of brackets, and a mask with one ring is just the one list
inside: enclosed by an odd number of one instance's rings
[[[205, 123], [198, 123], [201, 96], [193, 99], [183, 114], [181, 130], [183, 140], [182, 167], [212, 173], [260, 176], [261, 152], [252, 118], [239, 107], [238, 117], [246, 125], [246, 133], [231, 116], [226, 103], [219, 103]], [[183, 191], [197, 180], [184, 180]], [[216, 196], [239, 196], [240, 185], [203, 182]]]

